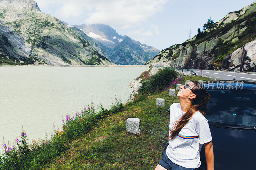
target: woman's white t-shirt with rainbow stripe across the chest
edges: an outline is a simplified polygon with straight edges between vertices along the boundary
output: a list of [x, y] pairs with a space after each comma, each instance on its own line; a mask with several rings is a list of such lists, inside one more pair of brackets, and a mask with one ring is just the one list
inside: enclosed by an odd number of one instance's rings
[[[174, 130], [174, 124], [184, 114], [180, 103], [170, 106], [169, 132]], [[199, 111], [192, 116], [178, 134], [169, 141], [166, 155], [175, 164], [186, 168], [198, 168], [201, 165], [200, 151], [204, 143], [212, 141], [212, 135], [207, 119]]]

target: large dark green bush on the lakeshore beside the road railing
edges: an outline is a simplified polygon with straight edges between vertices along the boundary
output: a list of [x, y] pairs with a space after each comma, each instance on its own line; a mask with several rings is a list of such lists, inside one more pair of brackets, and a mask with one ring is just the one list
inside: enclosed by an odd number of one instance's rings
[[165, 87], [178, 77], [178, 72], [175, 69], [165, 67], [154, 76], [150, 77], [147, 81], [142, 82], [138, 90], [139, 94], [146, 94], [154, 92], [155, 89], [163, 91]]

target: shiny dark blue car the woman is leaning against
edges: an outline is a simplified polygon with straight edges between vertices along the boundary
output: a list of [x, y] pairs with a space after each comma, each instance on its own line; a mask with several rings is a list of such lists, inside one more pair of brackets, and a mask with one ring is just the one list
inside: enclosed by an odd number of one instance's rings
[[[204, 84], [210, 94], [206, 115], [216, 170], [256, 170], [256, 81]], [[170, 112], [170, 111], [169, 111]], [[204, 146], [200, 169], [206, 170]]]

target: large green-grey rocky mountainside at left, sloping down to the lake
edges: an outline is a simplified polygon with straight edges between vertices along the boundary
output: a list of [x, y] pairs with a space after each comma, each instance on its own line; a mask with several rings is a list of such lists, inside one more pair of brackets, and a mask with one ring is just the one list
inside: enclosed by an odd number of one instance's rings
[[33, 0], [0, 0], [0, 64], [114, 64]]

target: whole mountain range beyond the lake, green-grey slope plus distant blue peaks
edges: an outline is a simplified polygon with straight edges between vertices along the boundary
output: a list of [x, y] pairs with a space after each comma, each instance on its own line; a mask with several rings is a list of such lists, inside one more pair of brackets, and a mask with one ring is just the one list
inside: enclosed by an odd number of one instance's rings
[[0, 65], [144, 64], [158, 52], [107, 25], [64, 24], [34, 0], [0, 0]]

